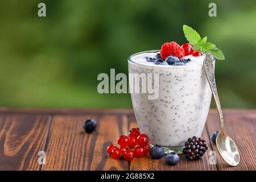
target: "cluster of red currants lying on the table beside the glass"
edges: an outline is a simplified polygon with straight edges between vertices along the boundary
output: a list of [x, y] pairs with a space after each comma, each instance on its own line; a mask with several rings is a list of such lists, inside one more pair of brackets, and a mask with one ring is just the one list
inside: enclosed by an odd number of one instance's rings
[[117, 140], [117, 145], [110, 144], [107, 152], [113, 159], [123, 158], [131, 161], [135, 158], [141, 158], [150, 152], [149, 138], [146, 134], [141, 134], [139, 129], [131, 129], [129, 137], [121, 135]]

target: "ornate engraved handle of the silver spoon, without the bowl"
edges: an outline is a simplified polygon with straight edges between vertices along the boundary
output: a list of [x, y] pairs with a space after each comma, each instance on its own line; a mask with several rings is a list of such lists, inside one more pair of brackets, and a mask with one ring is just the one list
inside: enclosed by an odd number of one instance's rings
[[213, 97], [218, 109], [218, 114], [220, 115], [221, 129], [223, 129], [224, 119], [223, 119], [222, 109], [220, 105], [220, 99], [218, 98], [217, 86], [216, 86], [215, 75], [214, 75], [213, 57], [209, 53], [207, 53], [204, 59], [204, 71], [207, 76], [210, 89], [212, 89]]

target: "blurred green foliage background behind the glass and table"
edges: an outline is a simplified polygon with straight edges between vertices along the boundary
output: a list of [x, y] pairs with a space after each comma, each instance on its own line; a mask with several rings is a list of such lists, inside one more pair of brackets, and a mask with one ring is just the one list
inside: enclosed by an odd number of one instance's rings
[[234, 0], [1, 1], [0, 106], [131, 107], [129, 94], [98, 94], [97, 75], [127, 73], [135, 52], [185, 43], [183, 24], [224, 52], [216, 64], [223, 107], [256, 107], [256, 1]]

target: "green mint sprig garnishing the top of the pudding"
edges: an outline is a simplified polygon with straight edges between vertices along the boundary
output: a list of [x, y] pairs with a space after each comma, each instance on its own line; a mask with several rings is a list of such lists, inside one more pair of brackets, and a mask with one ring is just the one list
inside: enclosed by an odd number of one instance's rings
[[207, 42], [207, 36], [202, 39], [197, 31], [185, 24], [183, 25], [183, 32], [185, 38], [187, 38], [189, 44], [193, 46], [194, 50], [200, 50], [203, 53], [210, 53], [218, 60], [225, 59], [222, 51], [219, 48], [217, 48], [213, 43]]

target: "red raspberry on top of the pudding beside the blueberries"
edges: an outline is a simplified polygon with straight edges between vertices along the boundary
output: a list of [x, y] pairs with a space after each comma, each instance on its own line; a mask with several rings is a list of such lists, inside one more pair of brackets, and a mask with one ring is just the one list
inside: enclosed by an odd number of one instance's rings
[[169, 42], [169, 43], [163, 44], [163, 46], [160, 50], [160, 55], [163, 60], [165, 60], [166, 57], [171, 56], [171, 55], [181, 58], [185, 55], [185, 51], [176, 42]]

